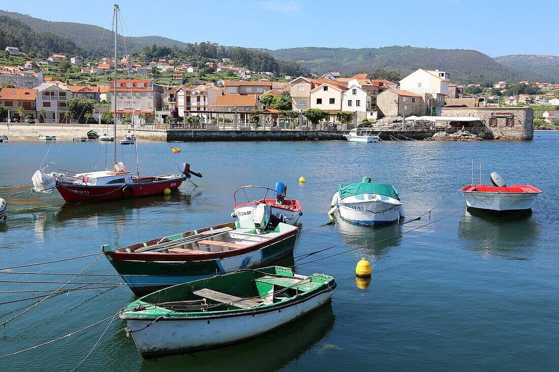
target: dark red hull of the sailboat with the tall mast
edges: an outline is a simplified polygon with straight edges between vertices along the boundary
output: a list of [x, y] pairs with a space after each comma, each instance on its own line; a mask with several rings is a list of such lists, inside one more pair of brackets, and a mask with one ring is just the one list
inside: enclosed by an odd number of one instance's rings
[[56, 189], [65, 201], [71, 203], [100, 202], [145, 197], [163, 194], [164, 189], [176, 190], [185, 177], [163, 179], [154, 182], [139, 182], [126, 185], [92, 186], [60, 182]]

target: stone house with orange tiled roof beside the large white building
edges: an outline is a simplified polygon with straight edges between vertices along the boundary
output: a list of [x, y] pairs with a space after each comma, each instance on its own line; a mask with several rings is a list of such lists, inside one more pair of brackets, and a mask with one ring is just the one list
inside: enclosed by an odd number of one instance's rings
[[378, 116], [423, 116], [423, 95], [407, 90], [388, 89], [377, 96]]

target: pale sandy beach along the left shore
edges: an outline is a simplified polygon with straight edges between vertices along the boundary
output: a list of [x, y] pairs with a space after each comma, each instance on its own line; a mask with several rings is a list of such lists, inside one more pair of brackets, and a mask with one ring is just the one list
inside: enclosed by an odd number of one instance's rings
[[[72, 126], [69, 125], [21, 125], [18, 123], [13, 123], [10, 129], [6, 126], [6, 123], [0, 123], [0, 136], [8, 136], [8, 141], [30, 141], [39, 140], [39, 135], [49, 135], [56, 136], [56, 140], [70, 140], [74, 136], [86, 136], [88, 131], [97, 131], [101, 133], [105, 130], [105, 126], [102, 125], [90, 125], [90, 126]], [[112, 133], [112, 129], [110, 131]], [[124, 139], [127, 130], [117, 129], [116, 135], [117, 139]]]

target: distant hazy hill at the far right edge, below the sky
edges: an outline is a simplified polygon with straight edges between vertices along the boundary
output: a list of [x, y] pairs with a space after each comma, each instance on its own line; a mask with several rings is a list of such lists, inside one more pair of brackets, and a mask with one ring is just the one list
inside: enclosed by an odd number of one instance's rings
[[546, 83], [559, 82], [559, 56], [512, 54], [495, 57], [494, 60], [520, 71], [539, 74]]

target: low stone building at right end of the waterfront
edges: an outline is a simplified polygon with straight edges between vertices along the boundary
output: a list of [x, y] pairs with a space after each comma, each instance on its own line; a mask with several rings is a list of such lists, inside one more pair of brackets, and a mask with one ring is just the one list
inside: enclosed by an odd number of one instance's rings
[[529, 107], [443, 107], [441, 116], [482, 119], [496, 140], [531, 140], [534, 111]]

